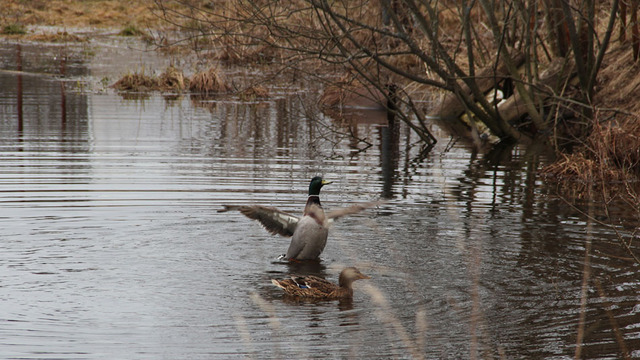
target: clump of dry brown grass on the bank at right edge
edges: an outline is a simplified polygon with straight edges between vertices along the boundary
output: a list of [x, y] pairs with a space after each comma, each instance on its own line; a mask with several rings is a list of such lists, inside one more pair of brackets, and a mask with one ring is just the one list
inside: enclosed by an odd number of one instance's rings
[[[617, 44], [605, 57], [598, 78], [595, 116], [589, 134], [571, 139], [545, 174], [574, 196], [590, 190], [640, 193], [640, 63], [628, 47]], [[603, 186], [604, 185], [604, 186]]]

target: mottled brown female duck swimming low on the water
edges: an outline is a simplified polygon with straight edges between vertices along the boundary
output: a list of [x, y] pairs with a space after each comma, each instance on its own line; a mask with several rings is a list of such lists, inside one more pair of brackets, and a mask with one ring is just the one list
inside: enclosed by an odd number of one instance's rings
[[307, 275], [292, 276], [290, 279], [272, 279], [273, 285], [281, 288], [287, 295], [313, 299], [347, 299], [353, 297], [351, 284], [360, 279], [371, 279], [354, 267], [342, 270], [338, 285], [323, 278]]

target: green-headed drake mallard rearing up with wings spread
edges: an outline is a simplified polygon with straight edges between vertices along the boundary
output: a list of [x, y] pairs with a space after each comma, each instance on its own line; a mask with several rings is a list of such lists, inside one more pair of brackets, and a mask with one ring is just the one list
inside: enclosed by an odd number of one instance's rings
[[291, 236], [291, 244], [284, 255], [288, 260], [314, 260], [324, 250], [329, 234], [329, 223], [341, 216], [354, 214], [376, 203], [353, 205], [331, 211], [325, 215], [320, 205], [320, 189], [331, 184], [316, 176], [309, 184], [309, 197], [301, 218], [273, 207], [262, 205], [225, 205], [218, 212], [239, 210], [250, 219], [258, 220], [264, 228], [276, 235]]

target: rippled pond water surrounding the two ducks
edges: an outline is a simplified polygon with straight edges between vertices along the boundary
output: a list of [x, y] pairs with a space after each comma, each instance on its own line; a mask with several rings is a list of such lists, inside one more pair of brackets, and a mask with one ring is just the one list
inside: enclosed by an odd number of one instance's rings
[[[474, 154], [434, 126], [421, 154], [404, 127], [310, 114], [315, 90], [125, 100], [85, 86], [162, 60], [86, 51], [0, 48], [0, 358], [573, 358], [586, 248], [583, 354], [640, 358], [638, 266], [553, 195], [535, 151]], [[327, 208], [389, 200], [336, 223], [317, 268], [216, 212], [298, 213], [316, 174]], [[611, 205], [628, 236], [637, 214]], [[372, 277], [352, 303], [292, 303], [269, 281], [345, 265]]]

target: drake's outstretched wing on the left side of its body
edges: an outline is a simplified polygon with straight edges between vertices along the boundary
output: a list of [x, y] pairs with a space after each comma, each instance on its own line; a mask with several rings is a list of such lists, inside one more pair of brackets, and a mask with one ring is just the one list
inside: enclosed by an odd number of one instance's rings
[[291, 236], [296, 231], [298, 217], [287, 214], [274, 207], [262, 205], [224, 205], [218, 212], [238, 210], [249, 219], [258, 220], [260, 224], [274, 235]]

